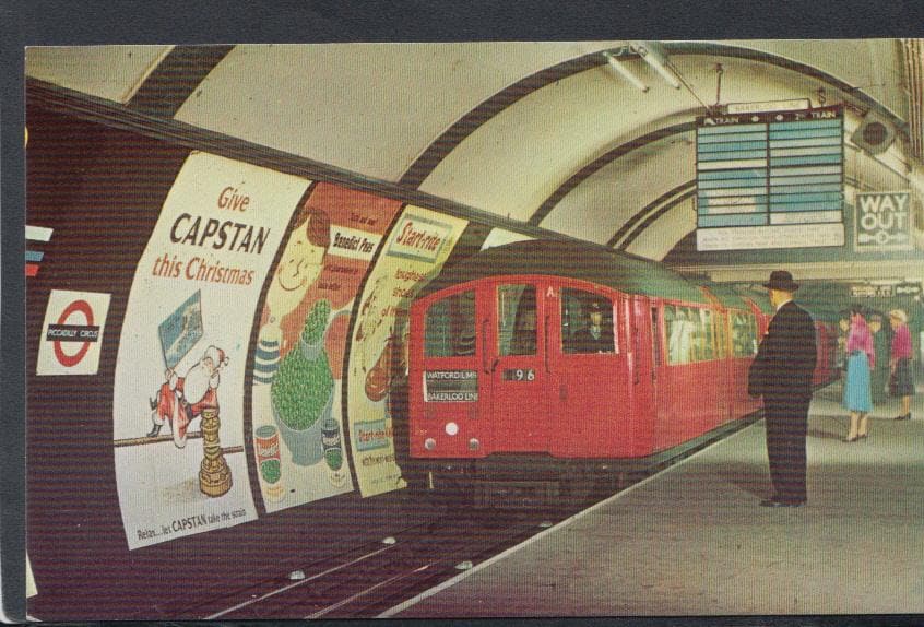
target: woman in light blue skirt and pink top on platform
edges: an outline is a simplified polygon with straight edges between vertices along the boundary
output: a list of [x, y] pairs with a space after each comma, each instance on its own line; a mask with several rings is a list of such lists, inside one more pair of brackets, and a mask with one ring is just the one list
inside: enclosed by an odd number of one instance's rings
[[844, 381], [843, 405], [850, 412], [850, 433], [845, 442], [855, 442], [869, 435], [868, 417], [873, 411], [869, 371], [876, 365], [873, 334], [863, 317], [863, 308], [850, 309], [850, 332], [846, 340], [848, 372]]

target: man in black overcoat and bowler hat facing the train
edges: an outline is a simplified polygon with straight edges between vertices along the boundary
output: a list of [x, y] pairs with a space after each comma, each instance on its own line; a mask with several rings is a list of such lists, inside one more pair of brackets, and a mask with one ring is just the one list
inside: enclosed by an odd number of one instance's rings
[[784, 270], [770, 273], [763, 284], [777, 314], [748, 374], [747, 391], [763, 397], [767, 457], [773, 496], [765, 507], [798, 507], [806, 501], [805, 437], [812, 375], [815, 370], [815, 324], [808, 311], [793, 303], [798, 284]]

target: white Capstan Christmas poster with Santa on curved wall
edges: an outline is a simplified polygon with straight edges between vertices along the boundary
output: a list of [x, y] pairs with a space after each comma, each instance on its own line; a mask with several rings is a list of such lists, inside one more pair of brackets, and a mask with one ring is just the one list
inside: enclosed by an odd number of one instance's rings
[[253, 520], [245, 360], [309, 181], [192, 153], [129, 294], [116, 364], [116, 480], [130, 549]]

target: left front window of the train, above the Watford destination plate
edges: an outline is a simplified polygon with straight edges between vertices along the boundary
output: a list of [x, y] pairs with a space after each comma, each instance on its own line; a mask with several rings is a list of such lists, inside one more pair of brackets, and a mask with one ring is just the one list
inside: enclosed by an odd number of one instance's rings
[[462, 292], [427, 309], [424, 352], [427, 357], [475, 354], [475, 293]]

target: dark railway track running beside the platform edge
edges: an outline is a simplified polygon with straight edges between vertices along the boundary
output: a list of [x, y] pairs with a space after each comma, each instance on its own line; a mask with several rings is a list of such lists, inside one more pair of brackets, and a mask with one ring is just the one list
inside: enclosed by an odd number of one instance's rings
[[[419, 522], [376, 542], [304, 565], [275, 579], [225, 592], [196, 612], [201, 618], [371, 618], [519, 544], [544, 529], [753, 424], [739, 421], [711, 438], [661, 458], [631, 483], [595, 482], [580, 499], [533, 507], [471, 507], [429, 500]], [[424, 498], [424, 497], [422, 497]], [[288, 567], [287, 567], [288, 568]], [[203, 612], [203, 607], [206, 611]]]

